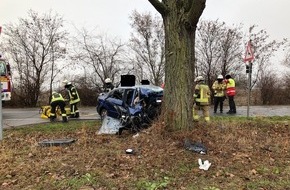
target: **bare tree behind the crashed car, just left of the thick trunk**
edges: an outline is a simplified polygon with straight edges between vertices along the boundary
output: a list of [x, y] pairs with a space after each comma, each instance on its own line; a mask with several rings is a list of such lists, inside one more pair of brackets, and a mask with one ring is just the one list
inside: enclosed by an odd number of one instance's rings
[[164, 78], [165, 49], [164, 28], [160, 17], [150, 13], [134, 11], [130, 16], [134, 32], [131, 34], [130, 47], [134, 52], [133, 62], [137, 78], [149, 79], [161, 85]]

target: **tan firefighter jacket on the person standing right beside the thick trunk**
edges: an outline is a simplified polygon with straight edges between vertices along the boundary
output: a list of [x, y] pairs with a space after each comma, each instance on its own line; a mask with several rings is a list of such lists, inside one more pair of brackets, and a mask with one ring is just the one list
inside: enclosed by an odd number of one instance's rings
[[194, 101], [199, 105], [209, 105], [210, 90], [206, 84], [195, 86]]

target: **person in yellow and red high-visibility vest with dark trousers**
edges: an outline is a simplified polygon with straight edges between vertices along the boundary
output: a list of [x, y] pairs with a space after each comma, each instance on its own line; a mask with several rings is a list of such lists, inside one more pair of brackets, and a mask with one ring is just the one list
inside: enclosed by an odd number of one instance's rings
[[226, 93], [229, 99], [229, 106], [230, 106], [230, 110], [227, 112], [227, 114], [236, 114], [237, 111], [236, 111], [236, 104], [234, 100], [234, 97], [236, 95], [235, 80], [231, 77], [231, 75], [226, 75], [225, 83], [226, 83]]

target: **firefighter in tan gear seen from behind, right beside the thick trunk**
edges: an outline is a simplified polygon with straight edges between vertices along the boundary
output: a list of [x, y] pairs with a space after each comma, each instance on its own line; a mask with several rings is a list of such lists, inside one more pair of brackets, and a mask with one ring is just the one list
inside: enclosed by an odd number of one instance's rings
[[193, 109], [193, 120], [198, 121], [199, 115], [198, 110], [202, 110], [204, 120], [208, 122], [209, 118], [209, 97], [210, 89], [207, 84], [205, 84], [204, 78], [198, 76], [195, 79], [195, 91], [194, 91], [194, 109]]

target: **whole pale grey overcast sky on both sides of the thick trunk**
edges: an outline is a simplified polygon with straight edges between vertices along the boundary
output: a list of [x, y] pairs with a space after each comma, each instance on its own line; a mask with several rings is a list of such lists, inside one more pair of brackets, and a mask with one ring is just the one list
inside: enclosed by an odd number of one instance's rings
[[[128, 16], [134, 9], [157, 13], [148, 0], [0, 0], [0, 5], [0, 25], [27, 17], [29, 9], [39, 13], [52, 10], [63, 16], [70, 28], [97, 28], [123, 40], [129, 37]], [[243, 23], [245, 31], [257, 24], [280, 40], [290, 38], [289, 7], [290, 0], [207, 0], [202, 18]]]

